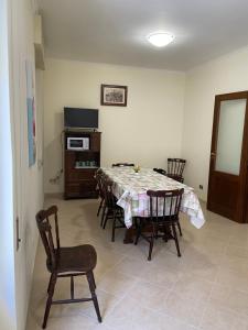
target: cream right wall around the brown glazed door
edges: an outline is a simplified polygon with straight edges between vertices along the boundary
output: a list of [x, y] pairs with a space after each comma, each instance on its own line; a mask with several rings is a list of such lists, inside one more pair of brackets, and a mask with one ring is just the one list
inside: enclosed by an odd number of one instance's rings
[[[248, 90], [248, 48], [228, 54], [186, 74], [182, 155], [186, 183], [207, 198], [215, 95]], [[204, 189], [200, 190], [198, 185]]]

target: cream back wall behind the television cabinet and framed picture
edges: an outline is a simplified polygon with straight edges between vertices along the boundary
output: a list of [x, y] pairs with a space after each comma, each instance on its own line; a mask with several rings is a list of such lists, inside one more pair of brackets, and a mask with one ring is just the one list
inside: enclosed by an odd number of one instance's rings
[[[103, 132], [101, 165], [134, 162], [165, 167], [168, 156], [180, 156], [182, 144], [183, 73], [47, 59], [44, 100], [45, 193], [63, 191], [50, 179], [61, 168], [63, 108], [99, 109]], [[128, 86], [128, 107], [101, 107], [100, 84]]]

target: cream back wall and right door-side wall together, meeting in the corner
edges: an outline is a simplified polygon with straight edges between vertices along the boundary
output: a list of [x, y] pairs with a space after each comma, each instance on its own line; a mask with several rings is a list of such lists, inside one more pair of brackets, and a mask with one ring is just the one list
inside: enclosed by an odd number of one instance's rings
[[[129, 87], [128, 107], [101, 107], [100, 84]], [[215, 95], [248, 89], [248, 48], [184, 74], [125, 66], [48, 59], [45, 72], [46, 193], [63, 191], [63, 107], [99, 108], [101, 164], [130, 161], [166, 167], [168, 156], [187, 160], [185, 183], [206, 200]], [[185, 103], [184, 103], [185, 97]], [[198, 188], [203, 185], [203, 190]]]

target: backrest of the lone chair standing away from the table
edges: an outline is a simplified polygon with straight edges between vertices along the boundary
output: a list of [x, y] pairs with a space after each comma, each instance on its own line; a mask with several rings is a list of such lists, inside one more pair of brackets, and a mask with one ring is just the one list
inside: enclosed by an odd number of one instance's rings
[[[50, 223], [51, 218], [54, 218], [54, 222], [55, 222], [56, 246], [54, 245], [52, 227]], [[61, 248], [58, 223], [57, 223], [57, 207], [52, 206], [47, 210], [39, 211], [36, 213], [36, 223], [47, 256], [47, 264], [51, 265], [51, 267], [54, 270], [56, 267], [55, 249], [58, 250]]]

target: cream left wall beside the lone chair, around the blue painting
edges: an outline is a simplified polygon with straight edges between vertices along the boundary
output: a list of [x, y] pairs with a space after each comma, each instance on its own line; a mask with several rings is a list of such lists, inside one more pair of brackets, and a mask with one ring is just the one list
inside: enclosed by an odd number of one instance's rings
[[[28, 153], [28, 111], [26, 111], [26, 72], [25, 62], [33, 67], [36, 80], [36, 144], [37, 158], [43, 148], [43, 108], [42, 108], [42, 73], [36, 74], [34, 67], [34, 9], [32, 0], [12, 0], [11, 6], [11, 114], [12, 147], [14, 173], [14, 219], [20, 219], [20, 249], [15, 251], [15, 305], [18, 329], [25, 328], [29, 297], [32, 286], [32, 274], [37, 245], [37, 228], [35, 213], [43, 207], [42, 169], [35, 165], [29, 167]], [[15, 246], [15, 240], [13, 242]]]

